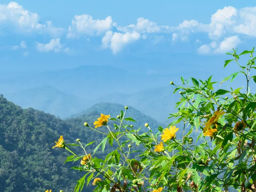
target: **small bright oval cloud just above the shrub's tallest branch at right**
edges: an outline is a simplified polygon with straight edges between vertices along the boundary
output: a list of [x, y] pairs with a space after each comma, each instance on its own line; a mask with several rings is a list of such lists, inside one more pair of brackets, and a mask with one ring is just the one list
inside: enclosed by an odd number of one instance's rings
[[241, 43], [241, 40], [238, 36], [231, 36], [228, 38], [224, 38], [223, 41], [221, 41], [218, 48], [215, 50], [217, 53], [226, 53], [228, 51], [231, 51], [232, 48], [236, 49], [236, 46]]

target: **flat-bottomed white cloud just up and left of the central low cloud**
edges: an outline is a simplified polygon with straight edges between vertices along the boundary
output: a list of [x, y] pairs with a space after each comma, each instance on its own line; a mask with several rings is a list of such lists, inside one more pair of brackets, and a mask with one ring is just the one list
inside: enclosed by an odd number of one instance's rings
[[101, 35], [112, 28], [112, 17], [103, 20], [93, 20], [90, 15], [75, 15], [72, 25], [68, 28], [67, 38], [76, 38], [81, 35]]

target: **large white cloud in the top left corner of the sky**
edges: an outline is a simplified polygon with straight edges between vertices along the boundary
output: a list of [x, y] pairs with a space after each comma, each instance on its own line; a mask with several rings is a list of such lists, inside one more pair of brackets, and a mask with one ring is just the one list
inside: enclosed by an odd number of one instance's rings
[[16, 2], [0, 4], [0, 24], [17, 33], [38, 32], [58, 36], [64, 31], [63, 28], [55, 28], [51, 21], [46, 24], [39, 23], [37, 13], [24, 9]]

